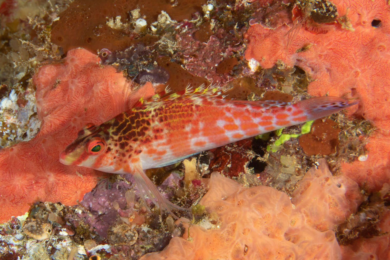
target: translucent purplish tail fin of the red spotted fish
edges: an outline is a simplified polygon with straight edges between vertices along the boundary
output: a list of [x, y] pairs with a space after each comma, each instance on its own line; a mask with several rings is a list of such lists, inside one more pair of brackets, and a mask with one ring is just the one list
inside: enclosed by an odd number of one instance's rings
[[312, 97], [298, 102], [296, 105], [303, 110], [307, 115], [307, 120], [314, 120], [333, 113], [337, 113], [340, 110], [358, 104], [359, 101], [353, 101], [349, 103], [347, 99], [340, 97]]

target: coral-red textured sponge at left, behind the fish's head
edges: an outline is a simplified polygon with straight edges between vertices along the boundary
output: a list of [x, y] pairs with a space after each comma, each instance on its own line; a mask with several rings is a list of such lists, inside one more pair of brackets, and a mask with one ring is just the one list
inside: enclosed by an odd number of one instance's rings
[[44, 65], [35, 74], [42, 124], [32, 140], [0, 150], [0, 222], [25, 213], [35, 200], [66, 205], [82, 200], [103, 173], [61, 164], [60, 151], [85, 124], [101, 124], [154, 93], [148, 84], [129, 96], [122, 73], [98, 62], [89, 51], [74, 49], [61, 63]]

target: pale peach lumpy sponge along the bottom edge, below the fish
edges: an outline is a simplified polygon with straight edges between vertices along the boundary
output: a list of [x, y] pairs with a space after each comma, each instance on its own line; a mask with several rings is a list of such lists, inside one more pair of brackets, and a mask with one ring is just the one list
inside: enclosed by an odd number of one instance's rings
[[[348, 205], [346, 190], [357, 184], [333, 179], [324, 160], [301, 184], [294, 207], [289, 196], [272, 187], [241, 187], [214, 172], [200, 203], [218, 214], [220, 228], [189, 226], [189, 238], [174, 237], [163, 251], [141, 259], [341, 259], [329, 228], [356, 208], [356, 201]], [[322, 225], [323, 220], [329, 225]]]

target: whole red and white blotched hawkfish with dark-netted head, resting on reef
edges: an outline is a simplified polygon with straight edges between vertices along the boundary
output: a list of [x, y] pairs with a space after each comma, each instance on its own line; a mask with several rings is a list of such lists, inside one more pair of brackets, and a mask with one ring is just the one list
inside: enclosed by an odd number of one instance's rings
[[355, 103], [312, 97], [296, 104], [227, 100], [220, 89], [187, 88], [140, 100], [113, 119], [85, 126], [60, 154], [60, 162], [108, 173], [130, 173], [140, 192], [160, 207], [184, 209], [163, 198], [144, 170], [198, 152], [336, 113]]

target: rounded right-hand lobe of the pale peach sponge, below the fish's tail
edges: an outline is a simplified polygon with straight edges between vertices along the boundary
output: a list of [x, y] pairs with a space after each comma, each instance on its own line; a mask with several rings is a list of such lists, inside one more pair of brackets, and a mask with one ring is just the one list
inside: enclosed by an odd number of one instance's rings
[[324, 159], [298, 182], [291, 198], [302, 221], [320, 231], [342, 223], [362, 200], [358, 184], [344, 175], [333, 177]]

